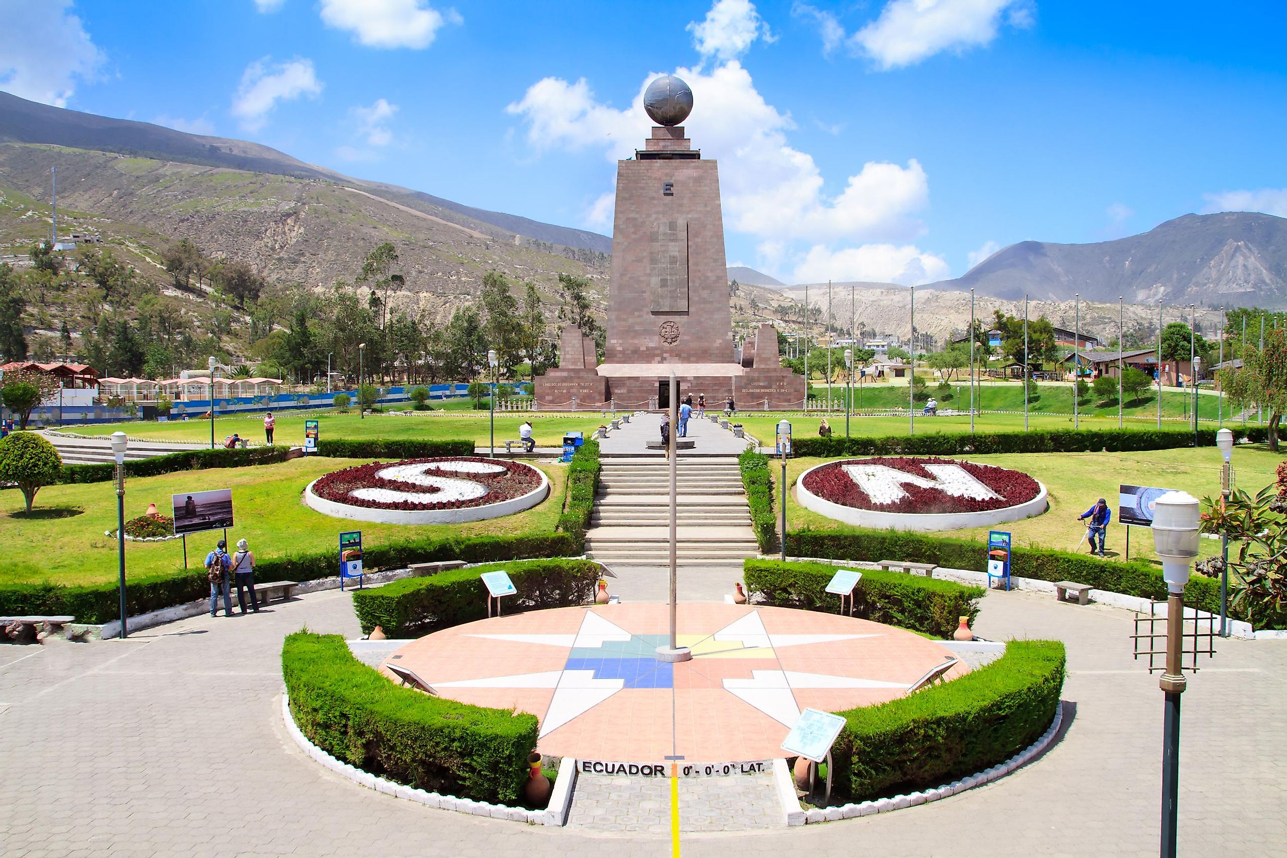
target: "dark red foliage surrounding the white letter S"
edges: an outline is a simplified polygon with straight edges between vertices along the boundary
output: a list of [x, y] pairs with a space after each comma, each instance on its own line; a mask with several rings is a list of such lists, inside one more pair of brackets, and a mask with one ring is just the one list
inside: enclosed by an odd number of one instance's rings
[[[438, 486], [421, 485], [418, 482], [405, 482], [403, 480], [387, 480], [376, 476], [385, 468], [403, 464], [429, 464], [431, 462], [484, 462], [505, 468], [502, 473], [462, 473], [457, 471], [429, 471], [426, 476], [441, 476], [450, 480], [468, 480], [486, 488], [486, 494], [466, 500], [440, 500], [430, 503], [414, 503], [411, 500], [371, 500], [356, 498], [351, 491], [356, 489], [389, 489], [391, 491], [408, 491], [414, 494], [435, 494], [440, 491]], [[459, 509], [462, 507], [484, 507], [490, 503], [499, 503], [528, 494], [541, 485], [541, 472], [530, 464], [523, 462], [502, 462], [499, 459], [486, 459], [480, 457], [449, 455], [431, 459], [403, 459], [402, 462], [372, 462], [359, 464], [344, 471], [332, 471], [320, 477], [313, 485], [313, 493], [319, 498], [345, 503], [353, 507], [372, 507], [375, 509]]]

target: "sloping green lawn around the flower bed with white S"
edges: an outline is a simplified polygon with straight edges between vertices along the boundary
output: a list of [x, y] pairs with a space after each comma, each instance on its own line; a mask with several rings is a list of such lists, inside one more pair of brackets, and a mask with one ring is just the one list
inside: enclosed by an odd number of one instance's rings
[[[565, 470], [543, 466], [550, 476], [550, 498], [514, 516], [463, 525], [377, 525], [332, 518], [304, 506], [304, 486], [329, 471], [359, 464], [354, 459], [311, 457], [282, 464], [220, 468], [138, 477], [126, 484], [126, 518], [143, 515], [148, 503], [162, 511], [170, 495], [193, 489], [233, 490], [237, 526], [229, 540], [248, 539], [259, 558], [277, 554], [336, 549], [342, 530], [362, 530], [364, 544], [377, 545], [421, 536], [551, 533], [562, 507]], [[0, 584], [51, 580], [62, 584], [91, 584], [115, 580], [116, 539], [104, 530], [116, 529], [116, 491], [111, 482], [46, 486], [36, 495], [28, 518], [17, 489], [0, 491]], [[188, 563], [197, 567], [214, 548], [221, 531], [188, 536]], [[183, 566], [183, 543], [125, 544], [129, 576], [171, 572]]]

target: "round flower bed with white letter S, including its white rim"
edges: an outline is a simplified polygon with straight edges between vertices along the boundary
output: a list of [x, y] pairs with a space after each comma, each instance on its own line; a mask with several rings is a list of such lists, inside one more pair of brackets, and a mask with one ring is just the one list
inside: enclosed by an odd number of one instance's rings
[[530, 464], [441, 457], [335, 471], [305, 489], [305, 503], [359, 521], [440, 524], [520, 512], [548, 493], [546, 475]]

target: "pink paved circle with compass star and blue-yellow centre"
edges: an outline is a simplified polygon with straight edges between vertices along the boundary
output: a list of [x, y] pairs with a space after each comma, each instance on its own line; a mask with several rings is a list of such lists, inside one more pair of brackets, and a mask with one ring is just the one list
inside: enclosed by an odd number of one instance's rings
[[[691, 661], [659, 662], [663, 603], [533, 611], [467, 623], [393, 653], [443, 697], [528, 711], [538, 750], [592, 760], [723, 763], [784, 756], [806, 707], [906, 693], [951, 652], [889, 625], [777, 607], [678, 607]], [[967, 670], [959, 662], [947, 678]]]

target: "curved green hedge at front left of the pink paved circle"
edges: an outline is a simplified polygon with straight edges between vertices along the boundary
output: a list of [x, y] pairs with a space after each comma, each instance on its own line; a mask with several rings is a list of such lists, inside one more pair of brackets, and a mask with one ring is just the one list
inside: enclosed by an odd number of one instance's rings
[[537, 718], [403, 688], [338, 634], [296, 632], [282, 677], [300, 731], [372, 774], [476, 801], [515, 804], [537, 746]]

